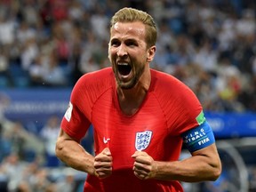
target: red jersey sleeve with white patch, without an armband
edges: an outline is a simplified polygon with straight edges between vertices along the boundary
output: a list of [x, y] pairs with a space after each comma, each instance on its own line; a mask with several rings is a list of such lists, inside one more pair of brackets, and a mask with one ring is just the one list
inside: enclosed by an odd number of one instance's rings
[[104, 68], [82, 76], [74, 86], [61, 128], [76, 140], [81, 140], [92, 124], [92, 110], [100, 96], [112, 87], [113, 71]]

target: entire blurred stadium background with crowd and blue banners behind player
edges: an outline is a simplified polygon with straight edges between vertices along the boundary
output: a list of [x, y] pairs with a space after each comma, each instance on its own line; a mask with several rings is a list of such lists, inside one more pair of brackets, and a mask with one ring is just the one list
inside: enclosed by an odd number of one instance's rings
[[[108, 21], [124, 6], [156, 19], [152, 68], [188, 84], [217, 139], [220, 179], [185, 191], [255, 191], [253, 0], [1, 0], [0, 191], [82, 191], [86, 174], [61, 164], [54, 142], [76, 80], [109, 66]], [[93, 151], [92, 130], [82, 143]]]

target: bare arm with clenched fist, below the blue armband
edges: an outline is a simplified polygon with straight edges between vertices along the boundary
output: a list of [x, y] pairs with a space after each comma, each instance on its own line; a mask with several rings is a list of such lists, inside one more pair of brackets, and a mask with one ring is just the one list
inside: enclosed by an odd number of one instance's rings
[[197, 182], [203, 180], [217, 180], [221, 172], [220, 157], [215, 143], [206, 148], [197, 150], [192, 156], [182, 161], [159, 162], [154, 161], [145, 152], [136, 151], [134, 174], [142, 179], [180, 180]]

